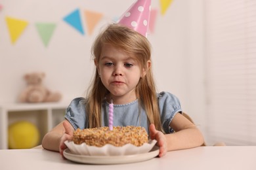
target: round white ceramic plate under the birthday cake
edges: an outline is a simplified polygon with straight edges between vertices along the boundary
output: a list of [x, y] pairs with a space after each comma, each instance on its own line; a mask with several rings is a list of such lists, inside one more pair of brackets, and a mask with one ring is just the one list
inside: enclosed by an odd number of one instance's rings
[[134, 154], [126, 156], [86, 156], [79, 154], [72, 154], [69, 148], [64, 150], [64, 157], [70, 161], [87, 164], [120, 164], [133, 163], [138, 161], [150, 160], [159, 154], [158, 146], [154, 146], [150, 152], [144, 154]]

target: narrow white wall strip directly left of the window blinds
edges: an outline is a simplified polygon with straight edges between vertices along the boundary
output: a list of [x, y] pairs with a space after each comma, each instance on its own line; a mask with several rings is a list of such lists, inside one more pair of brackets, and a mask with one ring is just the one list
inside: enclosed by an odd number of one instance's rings
[[[204, 1], [189, 1], [188, 5], [188, 52], [186, 66], [188, 67], [186, 82], [186, 105], [188, 112], [193, 116], [198, 127], [200, 127], [207, 138], [207, 124], [205, 118], [205, 30], [204, 30]], [[187, 1], [188, 3], [188, 1]]]

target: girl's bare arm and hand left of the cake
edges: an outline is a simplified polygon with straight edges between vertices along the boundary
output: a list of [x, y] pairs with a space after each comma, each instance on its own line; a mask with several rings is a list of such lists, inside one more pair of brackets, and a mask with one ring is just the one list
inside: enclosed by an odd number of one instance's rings
[[64, 141], [71, 140], [73, 133], [74, 127], [68, 120], [64, 120], [43, 137], [42, 146], [47, 150], [57, 151], [62, 154], [66, 148]]

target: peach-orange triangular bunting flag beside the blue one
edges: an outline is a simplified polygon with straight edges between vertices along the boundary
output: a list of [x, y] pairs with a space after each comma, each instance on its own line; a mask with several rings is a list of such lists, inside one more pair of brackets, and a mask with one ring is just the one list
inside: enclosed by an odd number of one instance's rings
[[85, 10], [85, 20], [87, 22], [88, 33], [91, 35], [96, 24], [101, 20], [103, 14], [99, 12], [93, 12]]

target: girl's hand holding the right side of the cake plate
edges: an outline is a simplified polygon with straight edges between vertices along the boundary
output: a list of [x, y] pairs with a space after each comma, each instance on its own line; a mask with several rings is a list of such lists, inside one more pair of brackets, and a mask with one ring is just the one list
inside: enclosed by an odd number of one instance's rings
[[156, 127], [154, 124], [150, 124], [149, 127], [150, 130], [150, 139], [156, 139], [158, 141], [158, 146], [159, 146], [159, 157], [162, 157], [166, 154], [167, 152], [167, 141], [165, 139], [165, 135], [161, 131], [157, 131]]

